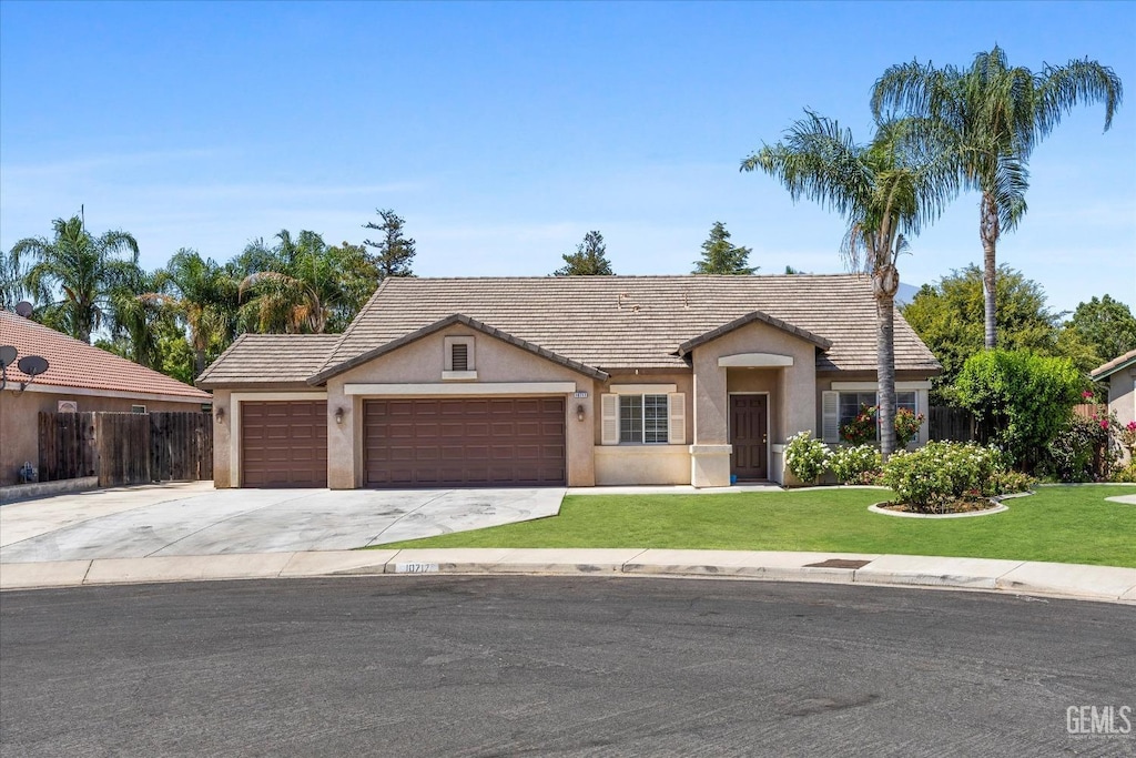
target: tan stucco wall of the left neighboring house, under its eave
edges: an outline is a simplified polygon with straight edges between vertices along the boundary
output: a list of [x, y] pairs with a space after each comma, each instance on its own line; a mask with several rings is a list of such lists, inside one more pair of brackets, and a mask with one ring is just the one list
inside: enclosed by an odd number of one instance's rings
[[81, 413], [101, 410], [122, 414], [131, 413], [132, 406], [145, 406], [147, 410], [153, 411], [200, 411], [201, 403], [208, 402], [198, 399], [169, 401], [40, 392], [34, 385], [20, 393], [6, 389], [0, 392], [0, 484], [17, 483], [19, 468], [25, 461], [40, 465], [40, 413], [56, 413], [60, 400], [75, 401]]

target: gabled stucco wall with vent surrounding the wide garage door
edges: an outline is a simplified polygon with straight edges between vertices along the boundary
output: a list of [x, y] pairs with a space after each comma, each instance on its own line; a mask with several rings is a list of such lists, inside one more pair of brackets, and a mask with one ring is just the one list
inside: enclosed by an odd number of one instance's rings
[[[476, 380], [443, 382], [446, 336], [474, 338], [471, 363], [477, 373]], [[478, 388], [486, 384], [525, 382], [570, 382], [576, 391], [587, 392], [586, 398], [575, 398], [571, 393], [567, 393], [566, 397], [568, 484], [569, 486], [594, 485], [595, 459], [592, 455], [592, 448], [594, 445], [595, 382], [570, 368], [502, 340], [462, 325], [454, 325], [379, 356], [327, 382], [328, 486], [333, 490], [362, 486], [362, 402], [368, 397], [384, 397], [382, 389], [375, 389], [368, 394], [349, 394], [346, 391], [349, 385], [419, 384], [424, 385], [421, 392], [402, 397], [431, 397], [434, 392], [429, 385], [444, 384], [446, 388], [460, 388], [461, 397], [487, 397], [485, 392], [478, 392]], [[517, 391], [509, 393], [508, 397], [521, 394], [533, 393]], [[549, 393], [537, 392], [536, 394]], [[583, 409], [583, 422], [577, 418], [577, 407]], [[344, 411], [342, 424], [334, 422], [337, 408], [342, 408]]]

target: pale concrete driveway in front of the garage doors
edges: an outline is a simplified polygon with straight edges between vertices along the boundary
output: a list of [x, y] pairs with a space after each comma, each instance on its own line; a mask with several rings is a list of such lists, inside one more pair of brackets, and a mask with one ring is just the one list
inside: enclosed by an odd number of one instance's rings
[[345, 550], [554, 516], [563, 488], [95, 490], [0, 507], [0, 563]]

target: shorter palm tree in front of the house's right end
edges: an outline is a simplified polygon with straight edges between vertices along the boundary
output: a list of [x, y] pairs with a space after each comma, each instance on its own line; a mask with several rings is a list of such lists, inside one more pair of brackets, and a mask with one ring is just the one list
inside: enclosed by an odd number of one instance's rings
[[[763, 145], [742, 161], [742, 170], [777, 178], [793, 200], [804, 197], [847, 220], [841, 252], [853, 270], [871, 275], [876, 298], [877, 378], [880, 452], [895, 448], [895, 291], [896, 259], [907, 236], [937, 217], [958, 192], [949, 144], [913, 141], [925, 125], [886, 122], [875, 139], [857, 144], [851, 131], [807, 110], [782, 142]], [[925, 130], [933, 134], [933, 130]]]

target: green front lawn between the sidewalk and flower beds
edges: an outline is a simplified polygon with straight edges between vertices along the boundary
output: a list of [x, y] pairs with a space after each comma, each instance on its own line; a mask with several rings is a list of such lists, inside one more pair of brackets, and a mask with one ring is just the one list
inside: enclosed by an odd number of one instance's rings
[[867, 510], [884, 490], [575, 495], [559, 516], [377, 548], [679, 548], [883, 552], [1136, 567], [1136, 486], [1046, 486], [977, 518]]

